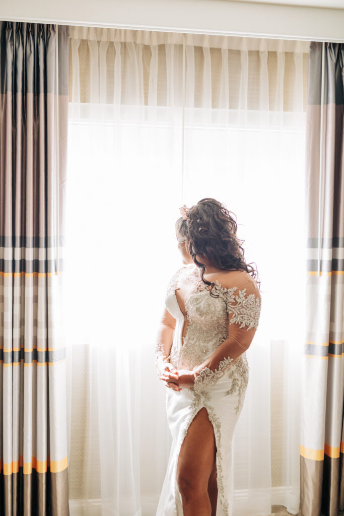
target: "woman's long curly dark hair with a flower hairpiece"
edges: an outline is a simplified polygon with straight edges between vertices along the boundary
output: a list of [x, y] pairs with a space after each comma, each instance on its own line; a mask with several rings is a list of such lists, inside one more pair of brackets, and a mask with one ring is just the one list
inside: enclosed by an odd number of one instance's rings
[[249, 272], [260, 290], [257, 270], [244, 260], [245, 251], [240, 246], [244, 240], [239, 240], [236, 235], [238, 227], [235, 214], [216, 199], [205, 197], [191, 206], [187, 215], [189, 220], [179, 217], [176, 221], [177, 239], [179, 243], [185, 241], [188, 245], [192, 260], [202, 270], [202, 281], [211, 285], [210, 295], [218, 297], [211, 292], [215, 282], [204, 278], [205, 265], [196, 260], [196, 254], [206, 257], [218, 269]]

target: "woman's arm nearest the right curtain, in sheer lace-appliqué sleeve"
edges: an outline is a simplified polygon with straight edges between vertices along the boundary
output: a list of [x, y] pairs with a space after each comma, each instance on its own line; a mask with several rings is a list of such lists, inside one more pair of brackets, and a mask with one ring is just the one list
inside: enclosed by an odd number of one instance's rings
[[254, 281], [220, 288], [228, 314], [228, 337], [202, 364], [194, 368], [195, 388], [216, 383], [228, 366], [246, 351], [258, 327], [261, 295]]

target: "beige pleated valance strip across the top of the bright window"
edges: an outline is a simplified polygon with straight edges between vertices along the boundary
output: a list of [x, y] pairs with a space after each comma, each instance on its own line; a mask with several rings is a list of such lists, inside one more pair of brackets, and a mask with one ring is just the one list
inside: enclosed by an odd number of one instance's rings
[[191, 109], [289, 112], [306, 104], [307, 41], [70, 29], [70, 102], [172, 107], [184, 99]]

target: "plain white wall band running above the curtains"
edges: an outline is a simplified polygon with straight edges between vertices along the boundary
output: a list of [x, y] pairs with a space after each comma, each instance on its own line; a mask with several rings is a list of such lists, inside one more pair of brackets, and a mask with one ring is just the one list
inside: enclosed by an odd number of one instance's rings
[[344, 42], [344, 9], [224, 0], [2, 0], [1, 20]]

